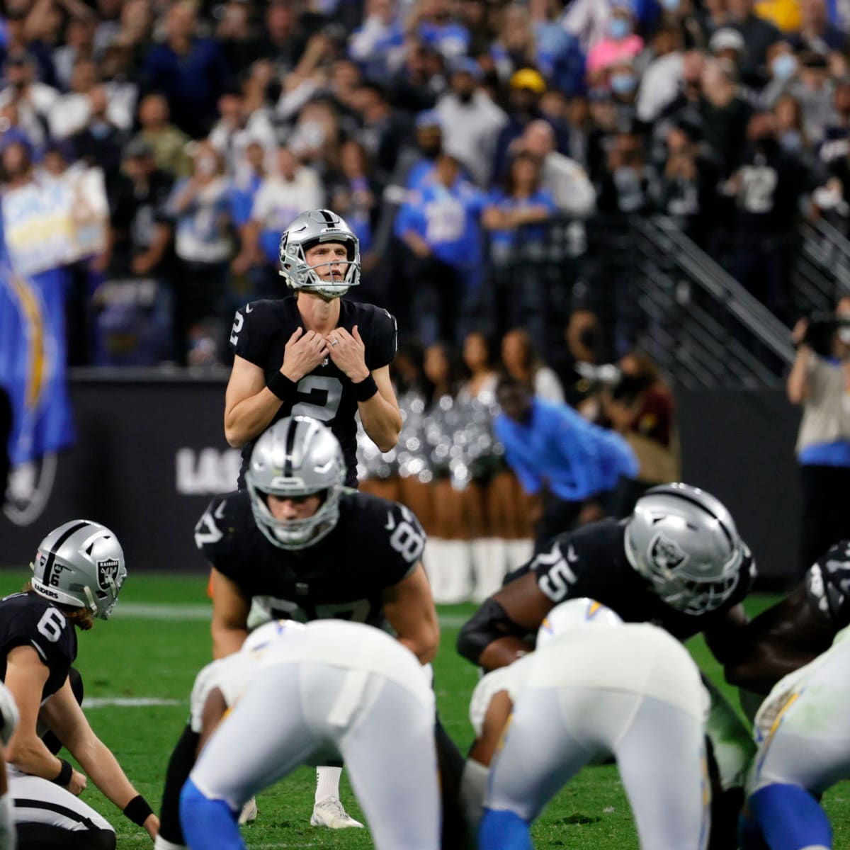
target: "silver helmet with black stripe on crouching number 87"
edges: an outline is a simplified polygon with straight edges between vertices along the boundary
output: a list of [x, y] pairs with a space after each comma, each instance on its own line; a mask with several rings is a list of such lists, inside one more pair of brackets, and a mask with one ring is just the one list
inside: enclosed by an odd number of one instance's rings
[[[339, 495], [345, 482], [343, 450], [330, 428], [309, 416], [275, 422], [254, 446], [245, 473], [251, 508], [259, 530], [281, 549], [303, 549], [327, 536], [339, 519]], [[269, 494], [282, 498], [325, 498], [307, 519], [275, 519]]]

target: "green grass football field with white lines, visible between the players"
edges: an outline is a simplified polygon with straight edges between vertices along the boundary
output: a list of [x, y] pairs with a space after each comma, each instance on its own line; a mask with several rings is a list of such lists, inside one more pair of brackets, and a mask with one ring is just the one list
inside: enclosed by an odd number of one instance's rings
[[[26, 574], [0, 573], [0, 592], [20, 588]], [[751, 614], [772, 599], [751, 599]], [[133, 575], [127, 581], [115, 616], [80, 633], [77, 667], [86, 688], [86, 708], [95, 732], [115, 752], [133, 784], [158, 809], [165, 768], [184, 726], [192, 681], [210, 660], [209, 603], [201, 576]], [[442, 641], [434, 662], [439, 713], [462, 751], [471, 741], [467, 719], [469, 695], [477, 672], [456, 655], [458, 626], [471, 605], [439, 609]], [[700, 666], [716, 682], [718, 667], [704, 644], [690, 644]], [[728, 694], [734, 705], [734, 694]], [[145, 700], [150, 700], [144, 704]], [[281, 698], [281, 711], [286, 710]], [[239, 757], [238, 753], [234, 758]], [[258, 797], [259, 818], [243, 834], [248, 847], [371, 847], [367, 830], [323, 830], [309, 826], [314, 774], [302, 768]], [[343, 802], [362, 819], [343, 772]], [[122, 817], [89, 785], [83, 799], [116, 826], [118, 847], [150, 846], [147, 836]], [[850, 802], [847, 785], [825, 797], [836, 830], [836, 847], [850, 847]], [[410, 801], [416, 806], [416, 800]], [[399, 812], [399, 817], [404, 817]], [[535, 846], [570, 850], [635, 848], [632, 817], [613, 766], [587, 768], [550, 804], [533, 830]]]

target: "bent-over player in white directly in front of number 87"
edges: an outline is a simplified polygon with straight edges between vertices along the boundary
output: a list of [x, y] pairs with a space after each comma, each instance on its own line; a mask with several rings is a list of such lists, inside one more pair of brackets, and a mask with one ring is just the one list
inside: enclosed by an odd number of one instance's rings
[[279, 628], [184, 785], [189, 847], [241, 850], [237, 816], [251, 796], [301, 764], [341, 757], [377, 850], [437, 850], [434, 698], [416, 656], [360, 623]]

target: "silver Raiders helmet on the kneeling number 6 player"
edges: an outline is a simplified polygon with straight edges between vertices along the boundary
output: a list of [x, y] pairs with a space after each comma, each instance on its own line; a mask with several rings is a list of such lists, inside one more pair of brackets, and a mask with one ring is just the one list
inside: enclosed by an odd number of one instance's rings
[[32, 589], [39, 596], [86, 608], [107, 620], [118, 601], [127, 567], [118, 538], [105, 525], [74, 519], [59, 525], [38, 546]]

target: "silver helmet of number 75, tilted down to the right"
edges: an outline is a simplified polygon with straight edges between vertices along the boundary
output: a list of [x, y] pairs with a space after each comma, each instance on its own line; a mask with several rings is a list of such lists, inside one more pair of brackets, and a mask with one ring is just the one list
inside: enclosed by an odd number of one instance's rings
[[723, 503], [689, 484], [662, 484], [638, 499], [626, 558], [666, 604], [691, 615], [719, 608], [751, 563]]

